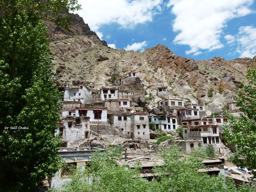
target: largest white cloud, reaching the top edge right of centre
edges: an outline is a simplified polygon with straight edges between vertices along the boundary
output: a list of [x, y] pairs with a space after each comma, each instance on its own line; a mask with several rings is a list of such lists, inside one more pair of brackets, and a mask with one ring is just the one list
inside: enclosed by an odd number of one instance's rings
[[251, 13], [253, 0], [170, 0], [173, 31], [179, 32], [174, 43], [189, 45], [186, 54], [200, 50], [213, 51], [224, 47], [220, 38], [228, 20]]

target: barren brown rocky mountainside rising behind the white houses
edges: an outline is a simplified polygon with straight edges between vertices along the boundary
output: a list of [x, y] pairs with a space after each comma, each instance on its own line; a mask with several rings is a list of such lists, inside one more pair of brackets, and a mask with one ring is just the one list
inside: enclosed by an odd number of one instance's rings
[[[72, 15], [73, 32], [53, 23], [46, 24], [50, 26], [48, 35], [53, 39], [50, 46], [55, 54], [56, 79], [62, 82], [83, 80], [96, 90], [111, 86], [113, 74], [126, 76], [136, 71], [145, 82], [145, 93], [150, 100], [147, 107], [151, 109], [163, 98], [179, 97], [187, 102], [205, 104], [207, 115], [220, 112], [232, 101], [239, 83], [246, 82], [247, 69], [256, 65], [256, 56], [253, 59], [214, 57], [195, 61], [175, 55], [161, 44], [141, 53], [112, 49], [77, 14]], [[157, 96], [157, 87], [163, 86], [167, 87], [168, 95], [161, 98]]]

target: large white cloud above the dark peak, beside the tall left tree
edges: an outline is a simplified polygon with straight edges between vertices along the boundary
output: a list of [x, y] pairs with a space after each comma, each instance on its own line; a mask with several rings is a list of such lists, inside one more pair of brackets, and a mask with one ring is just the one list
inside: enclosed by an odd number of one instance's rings
[[139, 23], [152, 21], [161, 11], [162, 0], [79, 0], [82, 10], [75, 11], [89, 27], [117, 23], [123, 28], [133, 28]]

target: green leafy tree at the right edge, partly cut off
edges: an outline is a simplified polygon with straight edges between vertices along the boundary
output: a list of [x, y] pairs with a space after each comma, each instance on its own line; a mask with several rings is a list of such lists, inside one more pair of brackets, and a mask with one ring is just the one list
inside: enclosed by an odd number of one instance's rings
[[[241, 83], [242, 88], [234, 96], [236, 106], [245, 115], [234, 117], [228, 114], [229, 126], [224, 126], [224, 140], [228, 145], [234, 145], [237, 151], [234, 152], [231, 160], [238, 167], [247, 167], [248, 170], [256, 169], [256, 70], [248, 69], [246, 75], [248, 84]], [[240, 158], [240, 157], [243, 158]], [[256, 172], [251, 172], [256, 178]]]

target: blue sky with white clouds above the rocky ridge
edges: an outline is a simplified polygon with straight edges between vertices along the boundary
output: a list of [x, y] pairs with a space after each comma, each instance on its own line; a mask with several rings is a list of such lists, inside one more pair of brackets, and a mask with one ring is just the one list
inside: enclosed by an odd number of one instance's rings
[[256, 0], [78, 0], [76, 11], [109, 47], [158, 44], [195, 60], [256, 55]]

